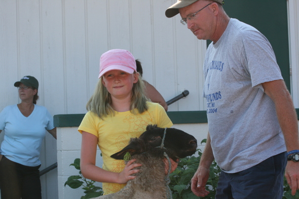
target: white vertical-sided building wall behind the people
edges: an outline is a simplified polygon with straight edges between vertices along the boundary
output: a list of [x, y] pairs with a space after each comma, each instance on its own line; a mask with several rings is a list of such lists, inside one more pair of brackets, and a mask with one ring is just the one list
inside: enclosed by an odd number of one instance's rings
[[[179, 16], [166, 18], [176, 0], [0, 0], [0, 111], [19, 103], [13, 84], [24, 75], [40, 82], [39, 105], [52, 115], [85, 113], [98, 81], [99, 58], [127, 49], [142, 62], [143, 77], [169, 100], [190, 94], [169, 111], [205, 110], [201, 96], [206, 43]], [[289, 0], [292, 95], [299, 107], [299, 5]], [[3, 134], [0, 134], [0, 142]], [[44, 169], [56, 162], [56, 140], [46, 136]], [[57, 198], [57, 169], [41, 178], [43, 198]]]

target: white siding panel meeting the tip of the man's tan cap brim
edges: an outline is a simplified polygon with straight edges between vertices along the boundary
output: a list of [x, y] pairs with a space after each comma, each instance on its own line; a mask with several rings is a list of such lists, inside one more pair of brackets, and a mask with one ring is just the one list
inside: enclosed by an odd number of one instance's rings
[[[177, 91], [177, 65], [175, 64], [175, 44], [173, 24], [165, 17], [165, 10], [171, 5], [170, 1], [153, 1], [154, 24], [154, 66], [156, 88], [163, 93], [165, 100], [173, 98]], [[177, 110], [172, 104], [169, 111]]]

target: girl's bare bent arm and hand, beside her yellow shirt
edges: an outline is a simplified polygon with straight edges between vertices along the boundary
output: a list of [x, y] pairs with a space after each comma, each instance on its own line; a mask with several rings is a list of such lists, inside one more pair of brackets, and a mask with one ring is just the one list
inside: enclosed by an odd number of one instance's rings
[[134, 168], [140, 167], [141, 164], [132, 164], [135, 159], [129, 161], [121, 173], [106, 171], [95, 166], [97, 142], [98, 138], [95, 135], [85, 131], [82, 132], [80, 167], [85, 178], [97, 182], [124, 184], [136, 177], [131, 175], [139, 171]]

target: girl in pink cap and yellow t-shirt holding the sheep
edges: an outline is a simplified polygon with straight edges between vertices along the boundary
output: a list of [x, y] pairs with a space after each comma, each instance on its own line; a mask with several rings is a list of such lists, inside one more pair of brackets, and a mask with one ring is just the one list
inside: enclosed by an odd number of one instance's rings
[[[122, 189], [135, 178], [132, 174], [139, 170], [134, 168], [141, 166], [135, 160], [125, 165], [110, 155], [123, 149], [130, 138], [139, 137], [147, 125], [172, 126], [164, 108], [149, 102], [143, 89], [129, 51], [114, 49], [101, 56], [99, 81], [78, 131], [82, 133], [81, 172], [88, 179], [103, 182], [104, 194]], [[95, 166], [97, 145], [103, 157], [102, 168]], [[172, 161], [172, 171], [176, 166]]]

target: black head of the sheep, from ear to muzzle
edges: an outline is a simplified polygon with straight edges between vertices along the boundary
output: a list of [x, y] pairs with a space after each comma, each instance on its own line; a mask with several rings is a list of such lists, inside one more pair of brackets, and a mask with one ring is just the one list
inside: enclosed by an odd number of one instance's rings
[[[123, 160], [126, 152], [134, 155], [161, 146], [164, 130], [156, 125], [148, 125], [146, 131], [138, 139], [132, 138], [128, 146], [120, 152], [111, 155], [111, 157]], [[192, 135], [181, 130], [168, 128], [166, 130], [164, 147], [171, 150], [174, 156], [183, 158], [195, 153], [197, 140]]]

